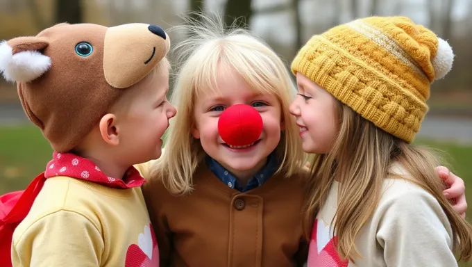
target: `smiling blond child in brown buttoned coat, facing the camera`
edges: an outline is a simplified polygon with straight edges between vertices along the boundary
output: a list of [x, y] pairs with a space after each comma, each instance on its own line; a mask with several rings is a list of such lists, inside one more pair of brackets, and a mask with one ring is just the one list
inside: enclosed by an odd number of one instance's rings
[[[201, 19], [185, 26], [177, 47], [183, 65], [171, 102], [179, 112], [166, 152], [140, 166], [151, 177], [143, 193], [161, 264], [301, 266], [305, 185], [298, 127], [287, 111], [296, 92], [291, 75], [258, 38]], [[237, 104], [262, 118], [262, 134], [248, 148], [230, 147], [219, 131], [219, 118]]]

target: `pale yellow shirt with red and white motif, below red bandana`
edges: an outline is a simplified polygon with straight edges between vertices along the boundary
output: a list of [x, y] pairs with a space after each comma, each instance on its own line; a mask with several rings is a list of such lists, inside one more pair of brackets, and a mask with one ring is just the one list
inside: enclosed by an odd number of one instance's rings
[[13, 234], [13, 266], [130, 267], [158, 262], [140, 187], [47, 179]]

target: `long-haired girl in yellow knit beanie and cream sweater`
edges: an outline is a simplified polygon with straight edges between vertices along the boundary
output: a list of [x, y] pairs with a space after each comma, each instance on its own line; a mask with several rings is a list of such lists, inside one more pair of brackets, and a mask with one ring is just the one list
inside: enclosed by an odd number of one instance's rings
[[298, 52], [290, 111], [303, 150], [318, 154], [307, 183], [308, 266], [457, 266], [453, 252], [471, 257], [471, 225], [441, 192], [435, 154], [411, 145], [430, 83], [452, 63], [448, 43], [406, 17], [357, 19]]

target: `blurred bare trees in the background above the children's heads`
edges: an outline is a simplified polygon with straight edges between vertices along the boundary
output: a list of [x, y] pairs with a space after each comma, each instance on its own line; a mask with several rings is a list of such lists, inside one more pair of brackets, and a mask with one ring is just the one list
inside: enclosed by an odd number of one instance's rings
[[[226, 24], [238, 19], [287, 65], [311, 35], [336, 24], [369, 15], [407, 15], [448, 40], [456, 54], [448, 79], [433, 86], [432, 111], [472, 115], [472, 0], [2, 0], [0, 40], [35, 35], [58, 22], [146, 22], [167, 29], [182, 23], [179, 15], [200, 10], [224, 13]], [[9, 93], [15, 100], [16, 92]], [[0, 90], [0, 102], [6, 95]]]

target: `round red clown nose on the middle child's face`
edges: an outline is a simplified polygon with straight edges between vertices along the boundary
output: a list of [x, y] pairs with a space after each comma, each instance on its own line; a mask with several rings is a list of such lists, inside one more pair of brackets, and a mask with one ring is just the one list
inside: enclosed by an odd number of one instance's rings
[[262, 118], [252, 106], [236, 104], [221, 113], [218, 131], [228, 145], [251, 145], [262, 133]]

